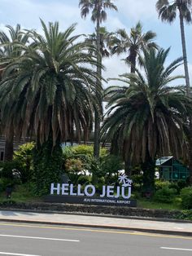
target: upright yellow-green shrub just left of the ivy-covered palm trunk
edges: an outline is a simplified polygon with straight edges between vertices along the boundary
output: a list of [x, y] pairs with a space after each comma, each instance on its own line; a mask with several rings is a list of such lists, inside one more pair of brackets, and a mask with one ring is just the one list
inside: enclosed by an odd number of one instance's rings
[[33, 142], [24, 143], [14, 152], [13, 159], [20, 164], [20, 174], [23, 183], [32, 179], [33, 176]]

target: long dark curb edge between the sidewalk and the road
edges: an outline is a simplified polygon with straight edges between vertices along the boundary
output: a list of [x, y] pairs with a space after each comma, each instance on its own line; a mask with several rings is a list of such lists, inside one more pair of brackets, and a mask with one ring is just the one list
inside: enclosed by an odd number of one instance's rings
[[123, 231], [135, 231], [135, 232], [153, 233], [153, 234], [161, 234], [161, 235], [192, 236], [192, 232], [159, 230], [159, 229], [150, 229], [150, 228], [141, 228], [141, 227], [109, 226], [109, 225], [102, 225], [102, 224], [59, 223], [59, 222], [47, 222], [47, 221], [37, 221], [37, 220], [33, 221], [33, 220], [7, 219], [7, 218], [0, 218], [0, 222], [46, 224], [46, 225], [55, 225], [55, 226], [72, 226], [72, 227], [105, 228], [105, 229], [118, 229], [118, 230], [123, 230]]

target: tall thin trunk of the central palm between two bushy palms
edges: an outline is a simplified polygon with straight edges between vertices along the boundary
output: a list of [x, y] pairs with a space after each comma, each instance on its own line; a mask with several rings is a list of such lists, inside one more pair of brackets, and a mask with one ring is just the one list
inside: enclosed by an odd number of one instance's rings
[[[98, 12], [100, 10], [100, 6], [98, 4]], [[97, 55], [97, 74], [98, 74], [98, 78], [97, 78], [97, 85], [98, 87], [101, 86], [101, 79], [99, 77], [101, 77], [102, 74], [102, 68], [101, 68], [101, 64], [102, 64], [102, 57], [100, 55], [100, 20], [99, 20], [99, 15], [97, 17], [97, 51], [98, 51], [98, 55]], [[100, 98], [100, 96], [98, 95], [98, 97]], [[102, 99], [100, 100], [102, 101]], [[101, 102], [99, 104], [102, 104]], [[98, 106], [99, 107], [99, 106]], [[101, 121], [101, 115], [99, 113], [99, 109], [95, 109], [95, 113], [94, 113], [94, 157], [97, 159], [99, 157], [99, 152], [100, 152], [100, 121]]]

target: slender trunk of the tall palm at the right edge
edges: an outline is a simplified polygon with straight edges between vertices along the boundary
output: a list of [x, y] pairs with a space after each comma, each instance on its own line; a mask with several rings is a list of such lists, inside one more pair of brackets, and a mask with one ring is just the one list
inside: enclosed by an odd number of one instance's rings
[[[186, 94], [190, 97], [190, 76], [187, 65], [187, 55], [186, 55], [186, 44], [185, 44], [185, 29], [183, 16], [180, 11], [180, 28], [181, 28], [181, 42], [182, 42], [182, 51], [183, 51], [183, 60], [184, 60], [184, 69], [185, 69], [185, 83], [186, 83]], [[190, 117], [190, 139], [189, 139], [189, 169], [190, 169], [190, 184], [192, 184], [192, 117]]]

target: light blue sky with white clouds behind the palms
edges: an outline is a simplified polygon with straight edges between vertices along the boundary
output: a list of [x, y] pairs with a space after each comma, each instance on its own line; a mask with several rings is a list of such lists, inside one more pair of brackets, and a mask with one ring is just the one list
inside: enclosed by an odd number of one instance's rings
[[[130, 28], [142, 22], [143, 32], [152, 30], [157, 34], [156, 42], [167, 49], [171, 47], [168, 62], [181, 57], [181, 34], [179, 20], [172, 24], [163, 23], [158, 19], [155, 10], [157, 0], [113, 0], [118, 7], [118, 12], [107, 11], [107, 21], [102, 24], [107, 31], [116, 32], [117, 29]], [[76, 23], [76, 34], [93, 33], [94, 26], [90, 16], [86, 20], [81, 19], [79, 0], [0, 0], [0, 29], [5, 25], [21, 24], [24, 29], [37, 29], [41, 33], [40, 18], [46, 23], [59, 21], [61, 30], [68, 29]], [[192, 84], [192, 24], [185, 25], [185, 40], [189, 62], [190, 83]], [[114, 56], [103, 60], [106, 67], [103, 76], [118, 77], [119, 74], [128, 73], [129, 67], [124, 64], [124, 55]], [[176, 74], [184, 74], [183, 67], [179, 67]], [[184, 83], [184, 81], [182, 81]]]

